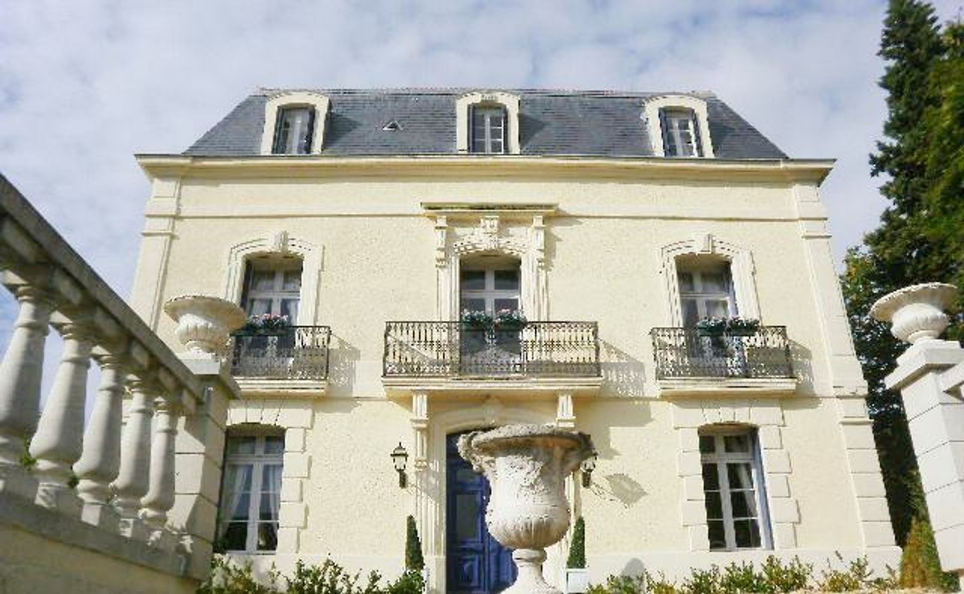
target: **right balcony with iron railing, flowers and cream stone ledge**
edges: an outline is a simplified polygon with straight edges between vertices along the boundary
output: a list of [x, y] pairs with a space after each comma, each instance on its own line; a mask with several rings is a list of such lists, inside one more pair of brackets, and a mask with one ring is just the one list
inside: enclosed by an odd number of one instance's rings
[[795, 389], [785, 326], [761, 326], [746, 336], [654, 328], [650, 336], [656, 353], [656, 380], [663, 392]]

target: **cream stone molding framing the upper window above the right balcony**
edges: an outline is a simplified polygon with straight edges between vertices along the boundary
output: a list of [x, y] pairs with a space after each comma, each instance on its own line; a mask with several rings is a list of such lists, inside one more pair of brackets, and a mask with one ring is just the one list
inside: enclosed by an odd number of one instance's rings
[[742, 317], [760, 319], [760, 304], [757, 301], [757, 285], [754, 279], [756, 271], [752, 254], [746, 248], [703, 232], [659, 248], [659, 260], [662, 262], [660, 272], [663, 275], [663, 283], [666, 284], [666, 311], [669, 312], [667, 325], [683, 326], [683, 312], [680, 311], [680, 284], [676, 266], [677, 258], [682, 256], [717, 256], [728, 260], [736, 293], [736, 312]]

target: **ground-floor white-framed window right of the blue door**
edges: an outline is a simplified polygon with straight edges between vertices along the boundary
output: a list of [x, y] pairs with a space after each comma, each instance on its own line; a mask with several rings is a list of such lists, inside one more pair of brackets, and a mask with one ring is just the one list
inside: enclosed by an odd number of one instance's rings
[[710, 551], [770, 548], [756, 429], [700, 429]]

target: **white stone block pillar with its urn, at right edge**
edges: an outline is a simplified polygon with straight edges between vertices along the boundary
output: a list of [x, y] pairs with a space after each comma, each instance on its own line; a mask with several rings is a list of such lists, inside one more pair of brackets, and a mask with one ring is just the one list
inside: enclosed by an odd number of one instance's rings
[[964, 372], [964, 349], [937, 338], [956, 293], [951, 284], [915, 284], [881, 298], [870, 315], [911, 343], [885, 385], [903, 397], [941, 567], [964, 581], [964, 398], [948, 381]]

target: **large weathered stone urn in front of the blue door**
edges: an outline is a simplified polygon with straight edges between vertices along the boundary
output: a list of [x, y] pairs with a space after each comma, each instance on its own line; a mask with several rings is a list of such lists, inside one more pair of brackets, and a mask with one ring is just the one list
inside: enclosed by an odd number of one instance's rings
[[492, 487], [485, 520], [502, 546], [513, 549], [516, 582], [503, 594], [557, 594], [543, 577], [546, 548], [569, 529], [564, 479], [593, 453], [588, 435], [549, 425], [507, 425], [459, 439], [459, 453]]

